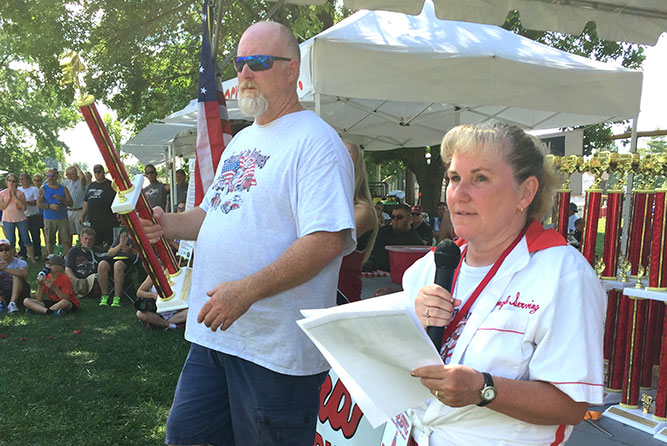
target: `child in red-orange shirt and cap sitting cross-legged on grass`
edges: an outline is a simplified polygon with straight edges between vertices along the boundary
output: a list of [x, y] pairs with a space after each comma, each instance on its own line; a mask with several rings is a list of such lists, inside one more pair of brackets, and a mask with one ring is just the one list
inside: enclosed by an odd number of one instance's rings
[[64, 316], [79, 308], [79, 300], [72, 290], [72, 282], [63, 271], [65, 259], [58, 254], [49, 254], [44, 262], [51, 272], [45, 277], [37, 276], [35, 298], [27, 297], [23, 305], [28, 313]]

